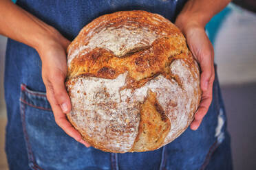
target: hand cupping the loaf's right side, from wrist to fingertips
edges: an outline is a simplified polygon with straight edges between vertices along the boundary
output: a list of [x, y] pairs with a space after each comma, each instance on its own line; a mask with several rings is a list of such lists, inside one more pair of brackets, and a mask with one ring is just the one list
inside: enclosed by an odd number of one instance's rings
[[181, 29], [186, 37], [189, 49], [200, 64], [202, 99], [198, 110], [195, 112], [195, 119], [190, 125], [191, 130], [197, 130], [209, 110], [213, 97], [213, 81], [215, 78], [213, 45], [211, 45], [211, 41], [204, 31], [204, 26], [193, 21], [182, 21], [182, 19], [177, 19], [175, 25]]

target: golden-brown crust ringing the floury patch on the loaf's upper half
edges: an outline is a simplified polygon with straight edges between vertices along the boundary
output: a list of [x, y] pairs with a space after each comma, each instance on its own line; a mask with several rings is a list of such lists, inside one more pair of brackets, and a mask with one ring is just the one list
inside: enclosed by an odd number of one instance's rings
[[[145, 11], [115, 12], [100, 16], [86, 25], [68, 47], [68, 53], [74, 53], [74, 50], [79, 48], [78, 45], [87, 45], [97, 30], [99, 32], [100, 29], [110, 26], [119, 28], [123, 25], [132, 25], [133, 29], [147, 27], [156, 35], [164, 32], [164, 36], [156, 39], [151, 45], [131, 49], [123, 56], [115, 56], [112, 51], [98, 47], [89, 52], [87, 52], [88, 49], [84, 49], [70, 63], [67, 73], [68, 79], [82, 74], [114, 79], [120, 73], [129, 71], [130, 77], [140, 81], [166, 71], [164, 68], [167, 68], [174, 59], [187, 58], [189, 50], [178, 27], [175, 27], [171, 22], [159, 24], [159, 21], [153, 20], [153, 18], [164, 19], [162, 16]], [[92, 32], [90, 29], [96, 30], [94, 34], [88, 36], [89, 32]], [[156, 56], [158, 57], [156, 58]]]

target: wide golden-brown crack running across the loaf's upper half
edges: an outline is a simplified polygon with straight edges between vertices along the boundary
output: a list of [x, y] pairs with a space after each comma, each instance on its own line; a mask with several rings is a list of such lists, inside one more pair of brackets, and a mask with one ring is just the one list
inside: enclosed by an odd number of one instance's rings
[[[136, 88], [134, 84], [140, 84], [140, 81], [151, 80], [150, 77], [156, 77], [160, 73], [170, 74], [168, 68], [171, 62], [186, 56], [182, 55], [181, 49], [178, 49], [182, 46], [173, 41], [175, 39], [164, 36], [156, 39], [149, 47], [132, 53], [128, 51], [129, 55], [127, 56], [129, 57], [122, 58], [101, 48], [95, 48], [85, 54], [82, 51], [81, 55], [72, 60], [67, 77], [70, 79], [78, 75], [88, 75], [114, 79], [128, 71], [130, 80], [134, 80], [134, 82], [128, 81], [127, 87]], [[189, 53], [187, 49], [186, 53]]]

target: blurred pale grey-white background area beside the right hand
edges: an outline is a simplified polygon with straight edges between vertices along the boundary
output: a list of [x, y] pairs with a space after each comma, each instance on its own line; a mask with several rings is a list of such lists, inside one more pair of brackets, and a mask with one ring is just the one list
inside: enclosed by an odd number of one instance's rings
[[256, 82], [256, 14], [229, 7], [214, 45], [220, 84]]

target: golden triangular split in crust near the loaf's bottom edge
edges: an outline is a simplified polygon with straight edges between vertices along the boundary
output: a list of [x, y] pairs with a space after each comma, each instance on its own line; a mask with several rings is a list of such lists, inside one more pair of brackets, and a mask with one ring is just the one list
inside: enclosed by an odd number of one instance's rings
[[162, 146], [171, 123], [151, 90], [140, 107], [140, 125], [134, 146], [130, 151], [151, 151]]

